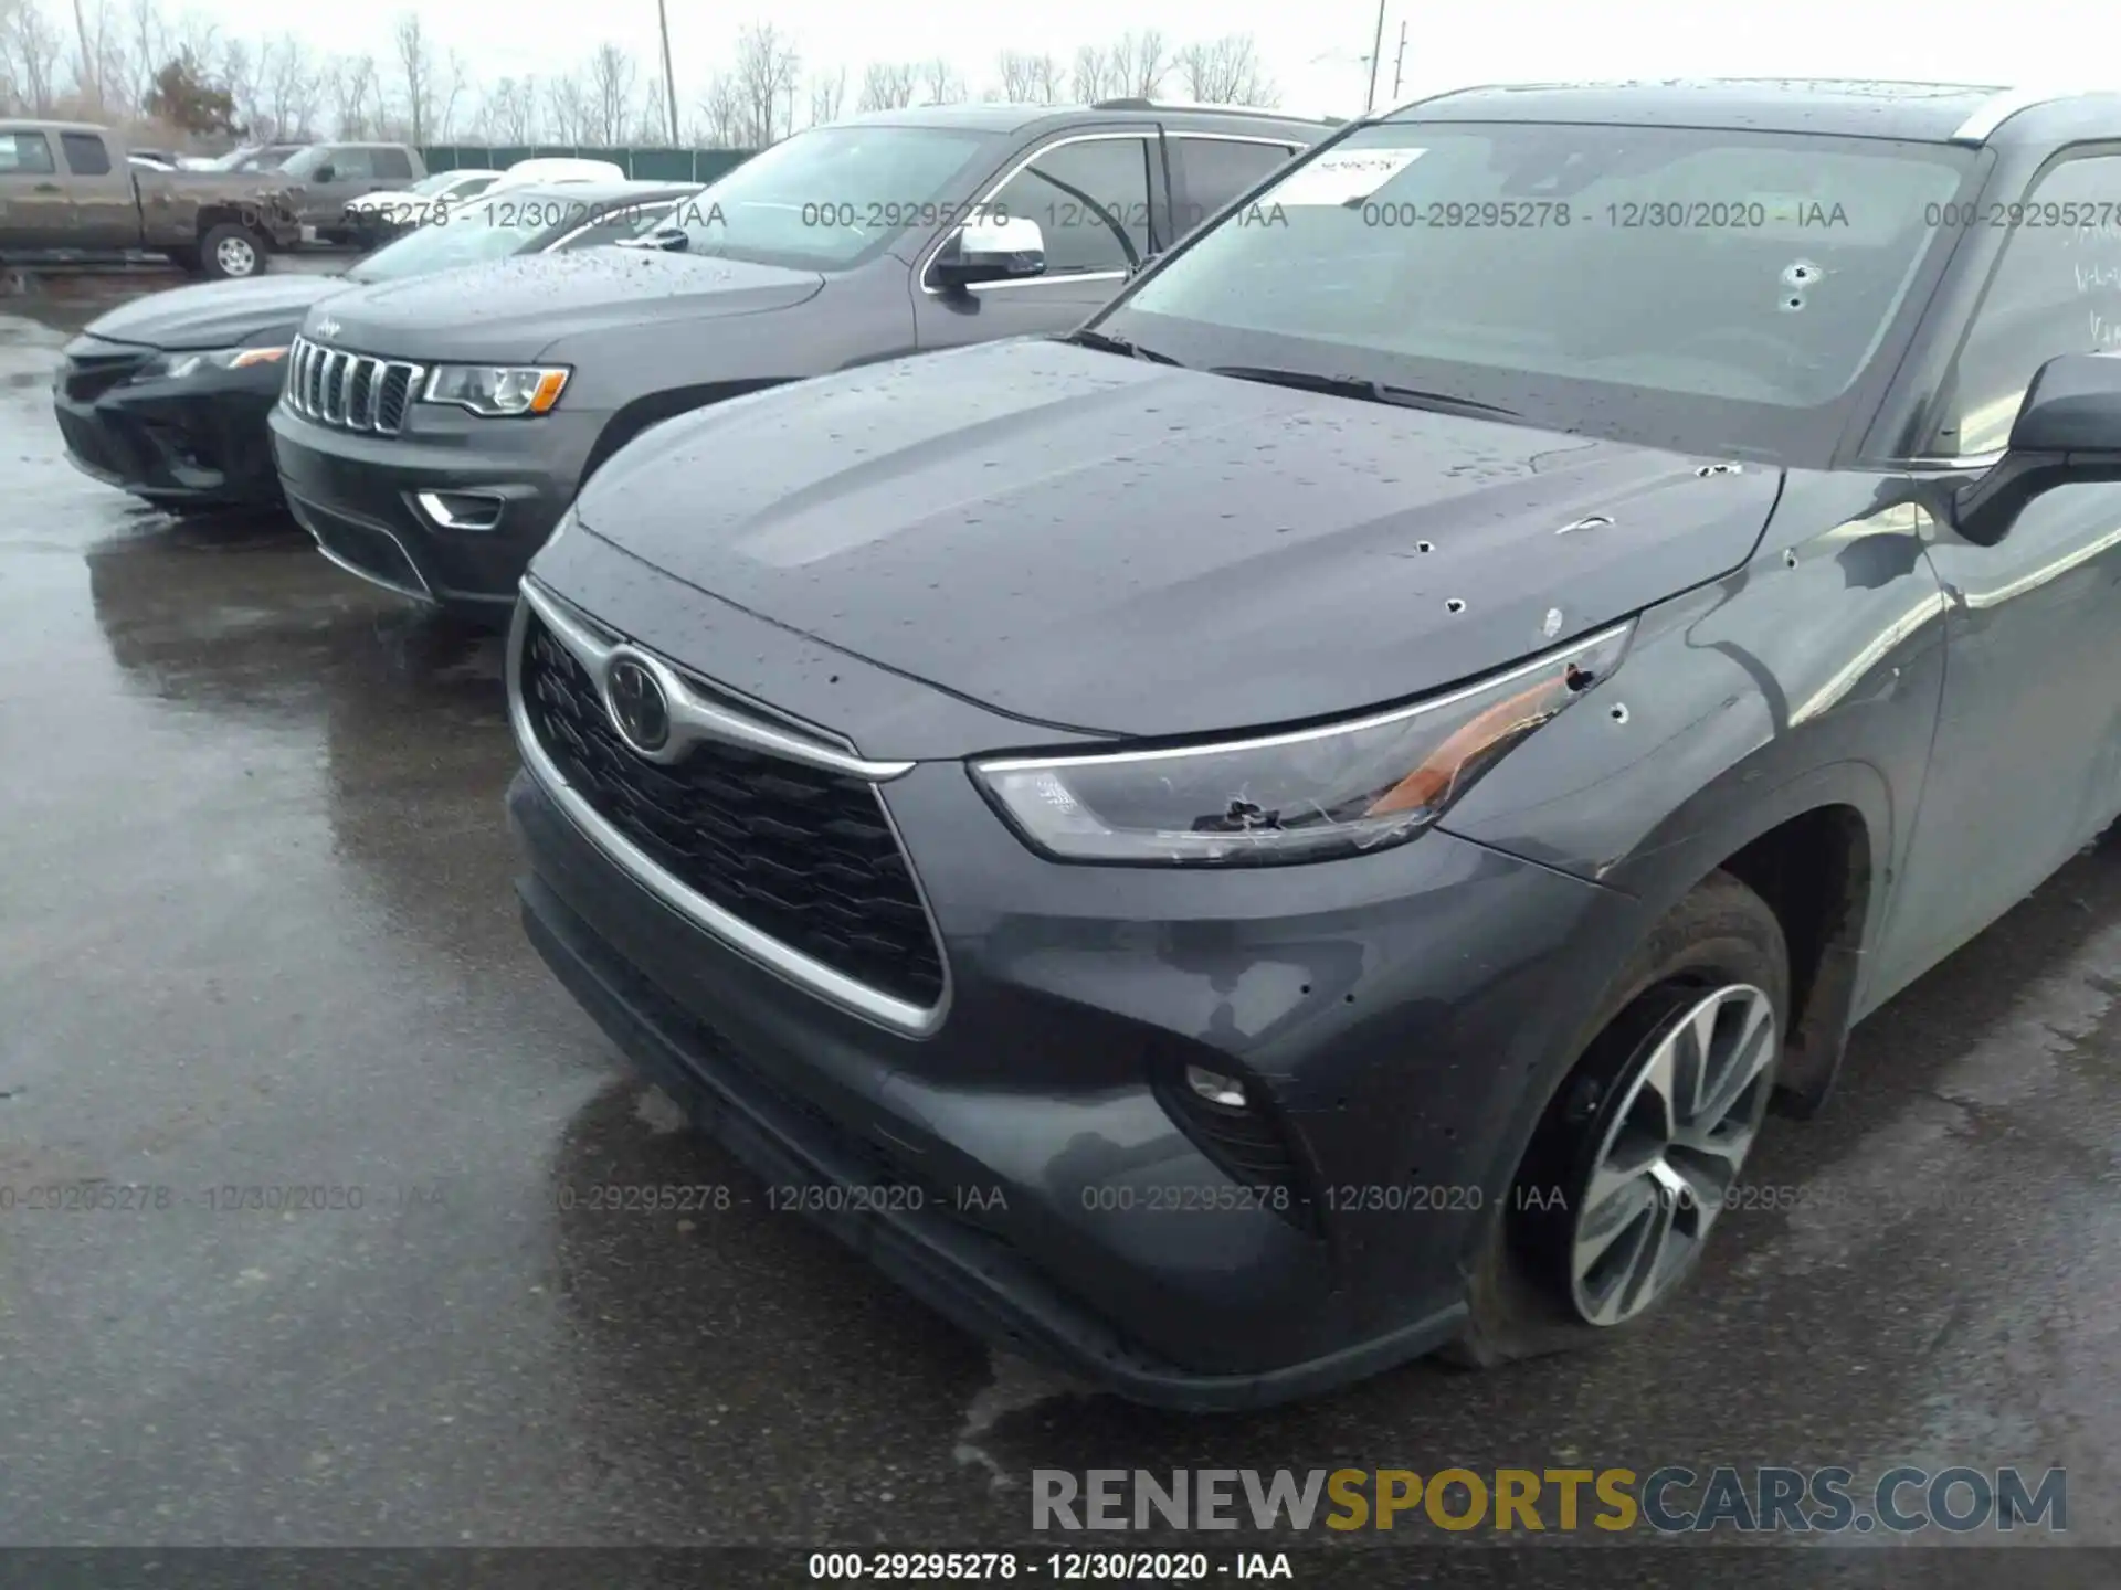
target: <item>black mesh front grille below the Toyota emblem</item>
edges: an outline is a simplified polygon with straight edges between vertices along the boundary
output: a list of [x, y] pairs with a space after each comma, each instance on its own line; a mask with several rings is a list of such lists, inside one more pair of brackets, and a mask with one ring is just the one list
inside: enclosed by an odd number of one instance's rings
[[744, 746], [643, 761], [581, 661], [524, 615], [522, 700], [568, 784], [658, 867], [791, 950], [914, 1005], [942, 952], [876, 787]]

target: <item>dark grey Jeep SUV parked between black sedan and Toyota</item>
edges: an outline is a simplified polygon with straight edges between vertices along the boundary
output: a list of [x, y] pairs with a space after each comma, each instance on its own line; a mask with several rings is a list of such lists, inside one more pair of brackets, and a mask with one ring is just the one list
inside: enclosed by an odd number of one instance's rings
[[[897, 110], [755, 155], [641, 250], [333, 297], [271, 422], [288, 502], [339, 564], [505, 617], [579, 483], [647, 426], [1065, 331], [1328, 131], [1145, 100]], [[411, 399], [344, 403], [384, 388]]]

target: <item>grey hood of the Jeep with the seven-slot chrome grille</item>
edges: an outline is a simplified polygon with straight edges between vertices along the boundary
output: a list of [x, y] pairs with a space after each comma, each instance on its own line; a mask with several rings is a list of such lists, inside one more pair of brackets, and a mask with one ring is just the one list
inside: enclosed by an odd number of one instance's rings
[[[350, 293], [320, 341], [418, 360], [534, 358], [609, 326], [785, 310], [823, 284], [817, 271], [645, 248], [522, 254]], [[318, 337], [316, 318], [303, 331]]]

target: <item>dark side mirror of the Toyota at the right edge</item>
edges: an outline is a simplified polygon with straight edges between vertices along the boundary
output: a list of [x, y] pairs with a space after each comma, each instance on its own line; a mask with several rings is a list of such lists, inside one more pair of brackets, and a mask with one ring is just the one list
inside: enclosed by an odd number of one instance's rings
[[2036, 496], [2091, 481], [2121, 481], [2121, 356], [2062, 354], [2026, 388], [2004, 456], [1953, 498], [1953, 522], [1994, 547]]

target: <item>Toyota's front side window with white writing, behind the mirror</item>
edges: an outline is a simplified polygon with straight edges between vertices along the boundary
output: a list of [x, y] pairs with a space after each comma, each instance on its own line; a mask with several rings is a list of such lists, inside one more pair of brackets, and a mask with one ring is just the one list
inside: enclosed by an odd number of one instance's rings
[[2121, 157], [2102, 155], [2055, 165], [2032, 184], [1960, 348], [1930, 454], [1998, 452], [2040, 365], [2121, 350], [2117, 182]]

